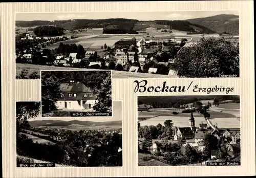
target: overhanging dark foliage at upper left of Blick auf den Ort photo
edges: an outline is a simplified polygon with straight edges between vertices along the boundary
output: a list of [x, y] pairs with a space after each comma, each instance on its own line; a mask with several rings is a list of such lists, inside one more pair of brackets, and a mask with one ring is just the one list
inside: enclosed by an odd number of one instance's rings
[[40, 113], [40, 102], [16, 102], [16, 133], [29, 128], [28, 119], [35, 118]]

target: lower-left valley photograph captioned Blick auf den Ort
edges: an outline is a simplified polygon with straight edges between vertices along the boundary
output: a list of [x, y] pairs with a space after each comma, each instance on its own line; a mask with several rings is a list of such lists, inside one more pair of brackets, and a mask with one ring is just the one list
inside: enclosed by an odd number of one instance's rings
[[122, 101], [111, 118], [42, 118], [40, 102], [16, 102], [17, 167], [121, 167]]

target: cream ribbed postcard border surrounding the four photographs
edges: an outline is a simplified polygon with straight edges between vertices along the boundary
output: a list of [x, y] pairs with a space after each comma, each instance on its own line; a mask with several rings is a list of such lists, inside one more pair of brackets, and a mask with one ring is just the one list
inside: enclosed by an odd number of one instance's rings
[[[4, 177], [101, 177], [101, 176], [237, 176], [255, 175], [254, 117], [254, 34], [253, 1], [197, 2], [94, 2], [94, 3], [1, 3], [2, 62], [2, 135]], [[113, 79], [113, 100], [122, 100], [123, 167], [116, 168], [16, 168], [15, 100], [39, 101], [39, 80], [15, 81], [15, 12], [145, 12], [239, 10], [240, 12], [240, 79], [147, 79], [151, 85], [163, 81], [170, 86], [191, 81], [204, 87], [234, 87], [230, 95], [241, 97], [241, 164], [225, 167], [138, 167], [137, 159], [137, 96], [135, 79]], [[222, 95], [225, 93], [212, 93]], [[167, 95], [143, 93], [142, 95]], [[205, 95], [191, 90], [168, 95]]]

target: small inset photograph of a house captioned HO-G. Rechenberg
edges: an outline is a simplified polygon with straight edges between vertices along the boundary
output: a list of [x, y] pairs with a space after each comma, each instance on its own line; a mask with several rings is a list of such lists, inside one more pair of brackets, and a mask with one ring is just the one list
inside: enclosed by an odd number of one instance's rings
[[111, 70], [41, 71], [42, 117], [111, 117]]

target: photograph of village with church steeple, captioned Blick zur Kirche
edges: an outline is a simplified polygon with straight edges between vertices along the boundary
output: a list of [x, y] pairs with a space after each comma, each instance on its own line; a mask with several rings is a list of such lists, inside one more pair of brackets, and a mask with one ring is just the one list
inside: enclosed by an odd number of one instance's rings
[[139, 166], [240, 162], [239, 96], [138, 97]]

